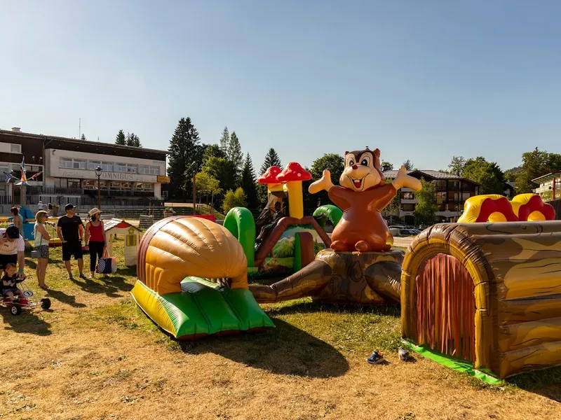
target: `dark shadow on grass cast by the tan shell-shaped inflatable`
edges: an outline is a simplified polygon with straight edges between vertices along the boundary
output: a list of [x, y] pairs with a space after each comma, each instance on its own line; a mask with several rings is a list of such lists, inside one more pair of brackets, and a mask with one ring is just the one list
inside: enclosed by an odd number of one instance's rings
[[238, 363], [276, 374], [339, 377], [349, 370], [344, 356], [326, 342], [278, 318], [267, 332], [232, 337], [208, 337], [180, 342], [185, 353], [216, 353]]

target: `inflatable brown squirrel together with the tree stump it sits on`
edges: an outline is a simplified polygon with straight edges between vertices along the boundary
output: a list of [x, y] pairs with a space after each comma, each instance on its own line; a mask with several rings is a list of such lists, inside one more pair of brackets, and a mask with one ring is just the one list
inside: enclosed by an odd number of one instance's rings
[[309, 296], [338, 304], [399, 303], [404, 253], [391, 249], [393, 237], [380, 212], [399, 188], [420, 190], [421, 183], [408, 176], [405, 167], [396, 179], [386, 183], [379, 156], [378, 149], [346, 152], [340, 186], [333, 185], [329, 171], [311, 184], [310, 193], [327, 190], [330, 200], [337, 204], [320, 207], [315, 213], [327, 214], [335, 225], [330, 249], [321, 250], [287, 279], [271, 286], [250, 285], [257, 302]]

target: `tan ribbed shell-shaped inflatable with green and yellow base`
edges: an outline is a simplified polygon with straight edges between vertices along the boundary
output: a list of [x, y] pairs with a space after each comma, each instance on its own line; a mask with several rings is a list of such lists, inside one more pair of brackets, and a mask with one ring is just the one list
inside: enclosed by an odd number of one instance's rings
[[203, 218], [164, 218], [140, 241], [132, 290], [142, 310], [177, 339], [274, 325], [248, 290], [248, 263], [231, 233]]

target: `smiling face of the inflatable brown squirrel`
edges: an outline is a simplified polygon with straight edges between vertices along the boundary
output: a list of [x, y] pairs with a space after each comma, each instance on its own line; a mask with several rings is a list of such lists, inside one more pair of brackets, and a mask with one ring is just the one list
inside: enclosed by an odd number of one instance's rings
[[370, 150], [346, 153], [345, 169], [339, 184], [355, 191], [364, 191], [379, 185], [382, 177], [376, 163], [377, 159]]

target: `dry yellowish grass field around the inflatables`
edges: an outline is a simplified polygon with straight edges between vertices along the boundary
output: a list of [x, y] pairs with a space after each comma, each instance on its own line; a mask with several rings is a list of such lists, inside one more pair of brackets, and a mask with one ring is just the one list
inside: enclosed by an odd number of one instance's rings
[[[269, 332], [179, 344], [131, 300], [134, 268], [104, 280], [67, 280], [56, 249], [36, 292], [51, 309], [0, 308], [0, 419], [561, 418], [561, 368], [487, 386], [400, 362], [396, 308], [268, 304]], [[374, 349], [387, 363], [366, 363]]]

